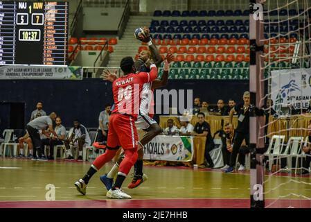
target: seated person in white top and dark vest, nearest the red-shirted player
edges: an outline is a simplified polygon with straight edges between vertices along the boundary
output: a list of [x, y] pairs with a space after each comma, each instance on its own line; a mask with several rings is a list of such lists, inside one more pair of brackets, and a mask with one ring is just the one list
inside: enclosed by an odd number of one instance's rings
[[83, 146], [91, 146], [87, 128], [80, 124], [77, 119], [73, 121], [73, 128], [69, 131], [69, 139], [65, 139], [64, 145], [66, 146], [66, 160], [73, 160], [71, 148], [78, 148], [79, 155], [77, 160], [82, 160]]

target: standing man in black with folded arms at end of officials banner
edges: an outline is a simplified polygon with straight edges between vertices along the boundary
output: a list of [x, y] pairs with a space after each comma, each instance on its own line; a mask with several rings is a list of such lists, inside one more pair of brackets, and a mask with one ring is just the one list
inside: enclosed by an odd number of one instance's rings
[[209, 152], [215, 148], [213, 137], [211, 135], [211, 126], [205, 121], [205, 114], [199, 112], [197, 114], [199, 121], [195, 124], [194, 132], [192, 133], [195, 137], [206, 137], [205, 153], [204, 156], [210, 168], [214, 167], [213, 160]]

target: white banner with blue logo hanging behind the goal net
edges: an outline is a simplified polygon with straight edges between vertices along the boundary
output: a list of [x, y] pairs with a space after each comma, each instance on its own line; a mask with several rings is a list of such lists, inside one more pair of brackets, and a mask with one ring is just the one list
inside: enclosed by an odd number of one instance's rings
[[276, 112], [289, 103], [298, 110], [308, 109], [311, 99], [311, 69], [276, 70], [271, 74], [271, 99]]

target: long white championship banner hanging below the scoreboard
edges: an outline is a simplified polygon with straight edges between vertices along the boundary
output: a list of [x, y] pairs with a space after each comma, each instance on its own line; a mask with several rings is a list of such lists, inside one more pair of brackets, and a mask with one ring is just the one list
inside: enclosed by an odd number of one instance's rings
[[0, 79], [81, 80], [82, 67], [48, 65], [10, 65], [0, 67]]

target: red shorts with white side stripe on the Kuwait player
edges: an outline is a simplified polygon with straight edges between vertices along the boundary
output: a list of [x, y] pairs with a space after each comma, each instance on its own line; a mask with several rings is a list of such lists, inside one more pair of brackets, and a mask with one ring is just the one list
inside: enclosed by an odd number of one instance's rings
[[107, 146], [123, 149], [136, 148], [139, 142], [135, 120], [124, 114], [112, 114], [109, 119]]

